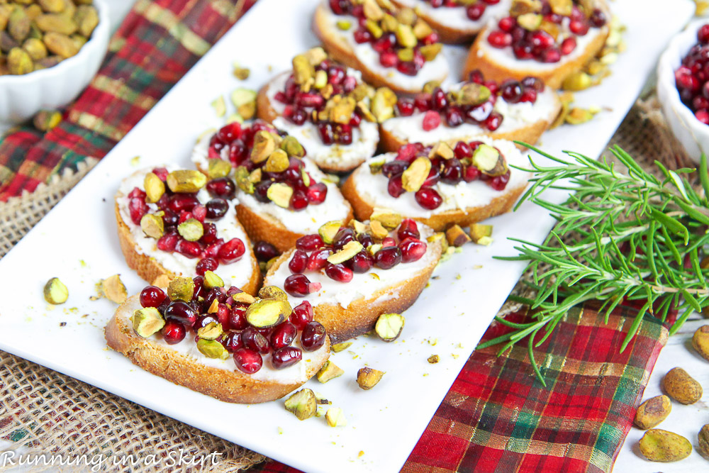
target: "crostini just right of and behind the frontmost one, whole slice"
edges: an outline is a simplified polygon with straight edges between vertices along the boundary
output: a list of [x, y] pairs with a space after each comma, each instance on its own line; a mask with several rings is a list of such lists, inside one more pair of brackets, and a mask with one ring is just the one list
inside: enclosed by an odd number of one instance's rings
[[340, 343], [414, 303], [440, 260], [442, 238], [392, 211], [347, 226], [329, 222], [281, 255], [265, 284], [283, 288], [303, 317], [314, 314]]

